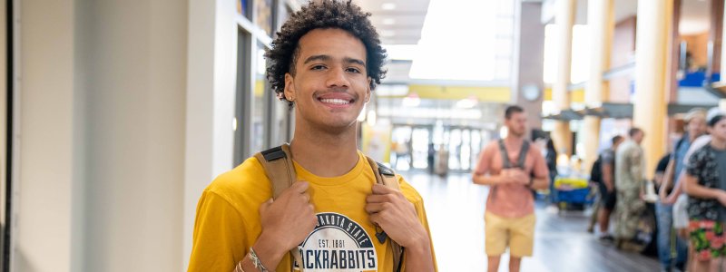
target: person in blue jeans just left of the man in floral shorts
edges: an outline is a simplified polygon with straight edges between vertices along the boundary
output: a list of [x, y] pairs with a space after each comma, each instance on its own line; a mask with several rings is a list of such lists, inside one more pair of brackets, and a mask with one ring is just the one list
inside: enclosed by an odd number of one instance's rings
[[[685, 165], [683, 158], [692, 142], [706, 132], [706, 112], [698, 108], [693, 109], [685, 115], [683, 121], [685, 121], [685, 133], [673, 147], [672, 157], [663, 175], [661, 189], [659, 189], [660, 201], [655, 204], [658, 223], [658, 258], [661, 260], [662, 271], [672, 271], [673, 267], [680, 270], [685, 268], [688, 246], [685, 240], [673, 235], [672, 231], [673, 204], [682, 189], [677, 182], [675, 182], [675, 186], [672, 186], [674, 183], [672, 180], [675, 180], [674, 177], [681, 176]], [[675, 239], [675, 243], [672, 243], [672, 239]]]

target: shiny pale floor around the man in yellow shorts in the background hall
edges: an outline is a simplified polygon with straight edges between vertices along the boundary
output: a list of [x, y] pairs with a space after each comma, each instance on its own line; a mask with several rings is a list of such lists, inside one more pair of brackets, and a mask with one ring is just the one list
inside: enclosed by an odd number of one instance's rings
[[[446, 179], [403, 172], [424, 197], [439, 271], [486, 271], [484, 209], [488, 189], [469, 175]], [[558, 215], [536, 209], [535, 254], [522, 261], [522, 271], [658, 271], [656, 259], [603, 245], [585, 232], [582, 212]], [[503, 257], [499, 271], [507, 271]]]

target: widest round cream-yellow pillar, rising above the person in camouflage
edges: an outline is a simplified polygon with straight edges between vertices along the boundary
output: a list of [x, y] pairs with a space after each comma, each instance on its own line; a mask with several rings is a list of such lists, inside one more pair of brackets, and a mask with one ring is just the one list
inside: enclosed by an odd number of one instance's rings
[[669, 70], [666, 59], [672, 12], [672, 0], [638, 1], [633, 125], [645, 132], [642, 146], [649, 179], [666, 151], [665, 75]]

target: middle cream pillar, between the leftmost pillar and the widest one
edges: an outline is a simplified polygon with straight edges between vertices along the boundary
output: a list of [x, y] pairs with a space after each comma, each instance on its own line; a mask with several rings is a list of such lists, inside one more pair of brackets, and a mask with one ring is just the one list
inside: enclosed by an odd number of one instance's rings
[[[603, 72], [610, 68], [610, 53], [613, 51], [613, 0], [590, 0], [587, 7], [587, 24], [590, 32], [590, 79], [585, 86], [584, 102], [596, 107], [608, 97], [608, 83], [603, 81]], [[589, 170], [597, 159], [600, 143], [600, 118], [584, 118], [584, 165]]]

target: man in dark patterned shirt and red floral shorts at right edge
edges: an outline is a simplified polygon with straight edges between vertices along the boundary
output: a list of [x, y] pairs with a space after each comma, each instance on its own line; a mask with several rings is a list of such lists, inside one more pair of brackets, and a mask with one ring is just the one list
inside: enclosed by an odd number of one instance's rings
[[711, 142], [694, 151], [683, 189], [691, 197], [688, 215], [695, 271], [724, 271], [726, 257], [726, 113], [709, 112]]

